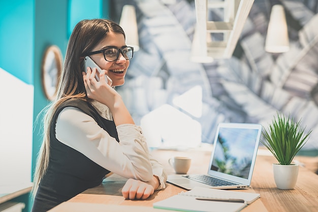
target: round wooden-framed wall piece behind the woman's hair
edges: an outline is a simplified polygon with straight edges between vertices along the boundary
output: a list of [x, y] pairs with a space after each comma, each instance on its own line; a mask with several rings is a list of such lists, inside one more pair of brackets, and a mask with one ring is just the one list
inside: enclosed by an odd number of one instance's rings
[[45, 96], [53, 100], [57, 91], [58, 80], [62, 70], [62, 54], [60, 49], [49, 46], [42, 58], [41, 79]]

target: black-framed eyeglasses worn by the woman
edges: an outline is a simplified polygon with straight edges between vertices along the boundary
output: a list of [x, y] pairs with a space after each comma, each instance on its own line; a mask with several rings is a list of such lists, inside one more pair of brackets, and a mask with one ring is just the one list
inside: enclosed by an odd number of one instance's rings
[[126, 60], [130, 60], [133, 58], [133, 55], [134, 55], [134, 47], [127, 46], [121, 49], [118, 49], [116, 47], [111, 47], [111, 48], [102, 49], [100, 51], [89, 52], [87, 53], [87, 56], [92, 54], [100, 54], [100, 53], [103, 53], [105, 60], [109, 62], [113, 62], [117, 60], [119, 57], [119, 53], [121, 53]]

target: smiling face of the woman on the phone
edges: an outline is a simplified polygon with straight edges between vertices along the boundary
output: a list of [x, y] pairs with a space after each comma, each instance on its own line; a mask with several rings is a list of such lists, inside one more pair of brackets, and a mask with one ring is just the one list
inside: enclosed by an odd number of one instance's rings
[[[107, 37], [103, 39], [94, 49], [92, 49], [92, 51], [99, 51], [108, 47], [117, 47], [118, 49], [121, 49], [125, 46], [126, 44], [123, 34], [110, 31]], [[121, 53], [119, 53], [118, 59], [113, 62], [106, 61], [103, 53], [90, 55], [90, 58], [102, 69], [108, 71], [107, 75], [113, 81], [112, 86], [120, 86], [124, 84], [124, 78], [130, 61], [126, 60]]]

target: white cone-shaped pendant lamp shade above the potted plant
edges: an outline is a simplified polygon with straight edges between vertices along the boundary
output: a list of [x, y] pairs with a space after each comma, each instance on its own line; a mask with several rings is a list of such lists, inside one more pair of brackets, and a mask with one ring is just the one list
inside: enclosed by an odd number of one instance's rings
[[289, 48], [284, 8], [282, 5], [274, 5], [269, 19], [265, 50], [271, 53], [282, 53], [287, 52]]

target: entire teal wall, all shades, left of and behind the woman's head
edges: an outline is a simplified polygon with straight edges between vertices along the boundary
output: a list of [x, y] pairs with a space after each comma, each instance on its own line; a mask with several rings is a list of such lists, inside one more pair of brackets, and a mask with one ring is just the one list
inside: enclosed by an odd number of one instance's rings
[[[0, 67], [27, 84], [34, 85], [33, 174], [41, 145], [42, 116], [37, 116], [48, 104], [41, 84], [41, 62], [50, 45], [60, 48], [65, 56], [68, 39], [75, 24], [82, 19], [107, 18], [108, 0], [15, 0], [0, 1]], [[22, 195], [13, 201], [26, 204], [32, 200]]]

